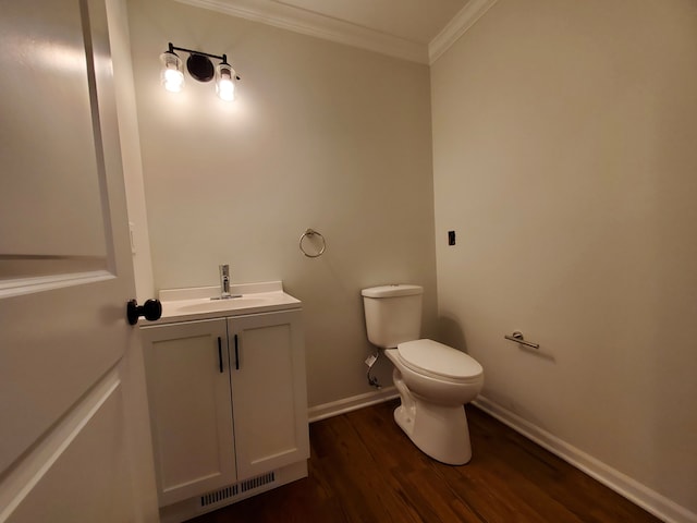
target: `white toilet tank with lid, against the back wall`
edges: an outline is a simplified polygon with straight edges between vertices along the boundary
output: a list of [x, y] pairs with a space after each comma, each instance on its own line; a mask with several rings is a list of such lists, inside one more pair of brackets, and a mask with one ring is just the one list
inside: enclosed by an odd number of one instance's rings
[[370, 343], [390, 349], [419, 338], [423, 287], [381, 285], [364, 289], [360, 294]]

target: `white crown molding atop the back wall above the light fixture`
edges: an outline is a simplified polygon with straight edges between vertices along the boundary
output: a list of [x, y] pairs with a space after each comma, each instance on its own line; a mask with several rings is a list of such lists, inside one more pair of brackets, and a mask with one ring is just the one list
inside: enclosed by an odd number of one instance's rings
[[428, 47], [424, 44], [270, 0], [176, 1], [411, 62], [429, 63]]

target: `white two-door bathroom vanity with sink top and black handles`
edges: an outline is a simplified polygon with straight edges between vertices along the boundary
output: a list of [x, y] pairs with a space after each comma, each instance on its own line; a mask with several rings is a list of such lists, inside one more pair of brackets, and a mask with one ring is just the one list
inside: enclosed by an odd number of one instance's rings
[[163, 522], [307, 476], [302, 304], [281, 282], [232, 292], [161, 291], [140, 327]]

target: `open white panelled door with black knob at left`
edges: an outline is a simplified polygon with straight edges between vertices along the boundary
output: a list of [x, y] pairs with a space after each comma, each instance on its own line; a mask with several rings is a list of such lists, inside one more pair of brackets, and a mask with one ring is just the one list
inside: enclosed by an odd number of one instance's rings
[[108, 36], [0, 0], [0, 522], [152, 518]]

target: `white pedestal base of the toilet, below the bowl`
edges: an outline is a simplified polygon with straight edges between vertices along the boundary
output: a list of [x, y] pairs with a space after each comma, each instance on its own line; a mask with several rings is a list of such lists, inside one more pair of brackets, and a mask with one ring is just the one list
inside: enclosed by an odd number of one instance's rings
[[464, 465], [472, 459], [463, 405], [437, 405], [414, 394], [404, 400], [394, 410], [394, 421], [425, 454], [449, 465]]

